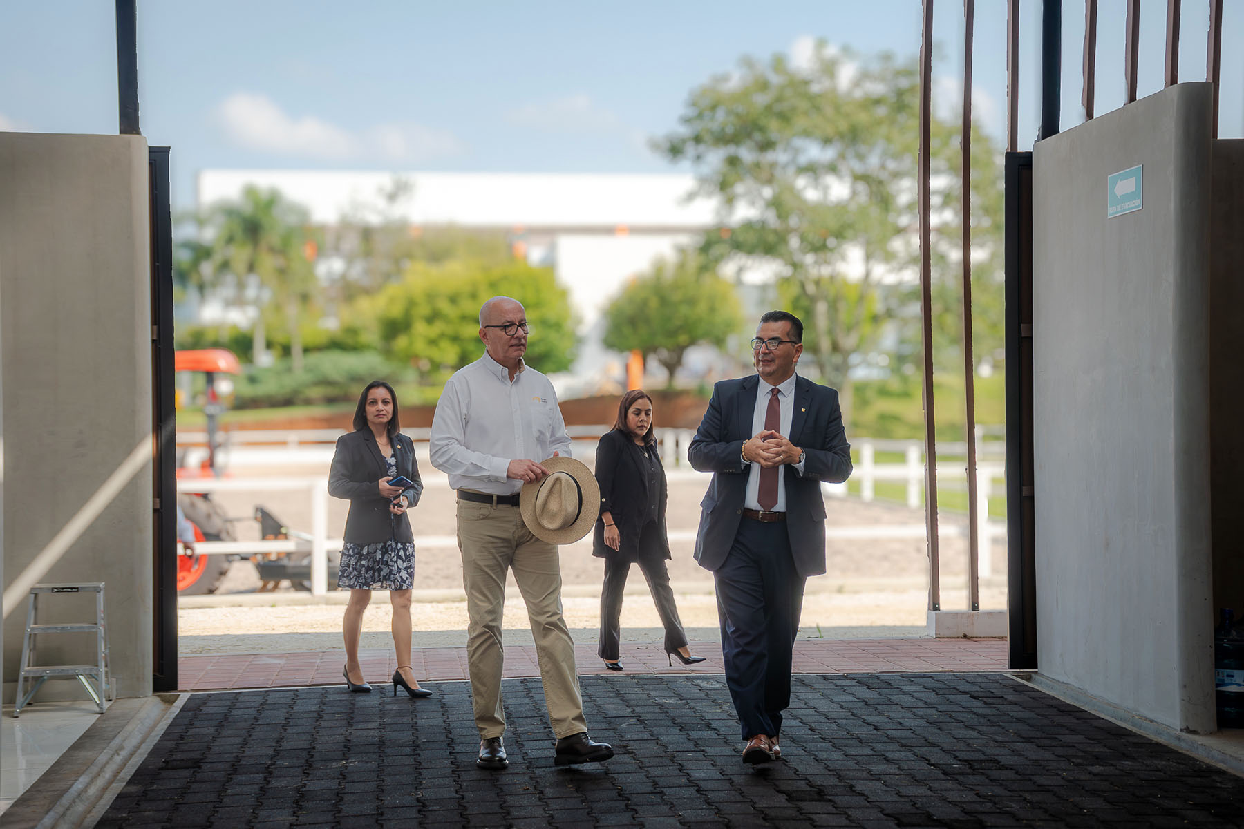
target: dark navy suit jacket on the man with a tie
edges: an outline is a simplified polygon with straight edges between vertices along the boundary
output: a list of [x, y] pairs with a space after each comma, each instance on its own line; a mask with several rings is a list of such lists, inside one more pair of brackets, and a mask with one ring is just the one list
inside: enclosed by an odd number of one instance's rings
[[[700, 524], [695, 534], [695, 561], [710, 570], [725, 562], [743, 520], [751, 464], [744, 464], [739, 451], [753, 435], [759, 385], [760, 378], [755, 374], [714, 385], [708, 411], [687, 450], [692, 467], [713, 472], [713, 481], [700, 501]], [[802, 476], [794, 466], [781, 467], [786, 482], [786, 529], [795, 569], [800, 575], [820, 575], [825, 572], [821, 481], [847, 480], [851, 444], [842, 429], [837, 392], [799, 377], [792, 403], [795, 410], [786, 437], [805, 455]]]

